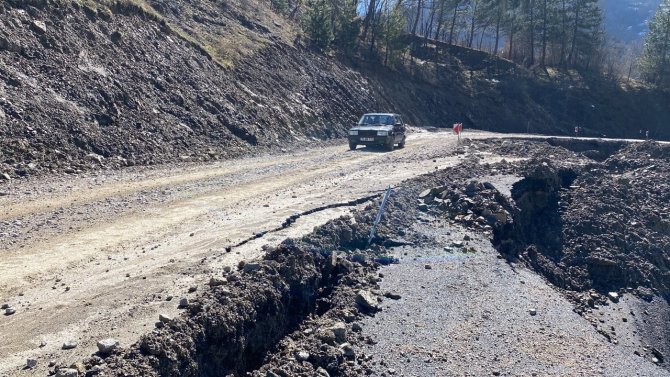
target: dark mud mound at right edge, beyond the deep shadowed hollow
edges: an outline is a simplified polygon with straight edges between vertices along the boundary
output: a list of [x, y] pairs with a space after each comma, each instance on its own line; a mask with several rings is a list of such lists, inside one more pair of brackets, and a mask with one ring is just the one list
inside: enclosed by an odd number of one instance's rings
[[670, 300], [670, 147], [624, 148], [576, 177], [562, 199], [558, 261], [571, 266], [571, 286]]

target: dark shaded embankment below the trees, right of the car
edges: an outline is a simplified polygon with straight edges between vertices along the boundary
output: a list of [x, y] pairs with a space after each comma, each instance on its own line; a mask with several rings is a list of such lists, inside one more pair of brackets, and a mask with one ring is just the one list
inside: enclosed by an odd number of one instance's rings
[[[424, 45], [425, 41], [418, 41]], [[438, 48], [436, 48], [436, 45]], [[440, 87], [447, 119], [466, 127], [593, 137], [670, 139], [670, 92], [595, 72], [526, 69], [511, 61], [428, 41], [417, 50], [422, 81]], [[640, 130], [643, 130], [640, 133]]]

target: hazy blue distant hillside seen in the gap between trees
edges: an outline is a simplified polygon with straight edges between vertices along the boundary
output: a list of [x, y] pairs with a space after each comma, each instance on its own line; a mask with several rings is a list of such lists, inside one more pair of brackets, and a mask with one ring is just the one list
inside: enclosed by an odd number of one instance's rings
[[626, 43], [642, 39], [647, 21], [660, 3], [661, 0], [600, 0], [607, 33]]

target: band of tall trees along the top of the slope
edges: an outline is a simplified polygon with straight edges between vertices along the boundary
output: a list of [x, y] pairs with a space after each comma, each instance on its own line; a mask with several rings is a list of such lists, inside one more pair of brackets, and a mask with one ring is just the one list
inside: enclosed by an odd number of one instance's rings
[[670, 0], [661, 1], [642, 43], [608, 35], [598, 0], [273, 0], [273, 6], [300, 19], [313, 47], [367, 50], [387, 65], [404, 62], [420, 37], [526, 67], [670, 87]]

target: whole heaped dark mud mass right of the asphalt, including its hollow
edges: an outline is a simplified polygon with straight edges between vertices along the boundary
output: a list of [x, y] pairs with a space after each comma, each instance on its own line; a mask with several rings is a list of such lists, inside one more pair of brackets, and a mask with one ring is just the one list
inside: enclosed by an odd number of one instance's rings
[[[477, 145], [532, 159], [452, 171], [448, 185], [421, 195], [424, 210], [488, 231], [506, 257], [524, 259], [560, 288], [670, 299], [669, 146], [575, 153], [525, 141]], [[602, 163], [587, 157], [604, 154], [611, 156]], [[520, 177], [509, 198], [489, 182], [469, 180], [492, 171]]]

